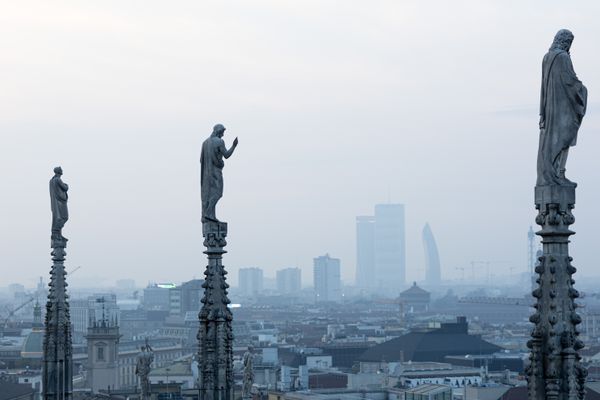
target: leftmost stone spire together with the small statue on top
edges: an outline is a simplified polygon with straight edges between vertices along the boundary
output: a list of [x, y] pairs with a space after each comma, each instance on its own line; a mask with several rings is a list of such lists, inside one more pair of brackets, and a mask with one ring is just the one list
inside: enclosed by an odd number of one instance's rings
[[44, 322], [42, 394], [45, 400], [70, 400], [73, 398], [73, 345], [64, 266], [67, 239], [62, 236], [62, 228], [68, 219], [68, 187], [60, 179], [60, 167], [55, 168], [54, 172], [50, 180], [53, 263]]

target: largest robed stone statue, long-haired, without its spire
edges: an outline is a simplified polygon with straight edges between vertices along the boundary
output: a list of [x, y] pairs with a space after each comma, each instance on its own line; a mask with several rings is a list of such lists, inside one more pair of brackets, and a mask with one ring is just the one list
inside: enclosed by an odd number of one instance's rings
[[561, 29], [542, 62], [537, 185], [572, 185], [565, 177], [569, 148], [585, 115], [587, 89], [573, 70], [571, 31]]

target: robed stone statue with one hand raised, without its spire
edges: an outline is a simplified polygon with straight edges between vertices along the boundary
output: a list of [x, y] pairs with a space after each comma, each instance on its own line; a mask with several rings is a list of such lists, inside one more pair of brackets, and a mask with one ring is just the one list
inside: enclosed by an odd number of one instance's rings
[[202, 197], [202, 222], [218, 222], [215, 213], [217, 202], [223, 197], [223, 158], [229, 158], [238, 145], [235, 138], [231, 148], [225, 147], [222, 139], [225, 127], [217, 124], [208, 139], [202, 143], [200, 154], [200, 186]]

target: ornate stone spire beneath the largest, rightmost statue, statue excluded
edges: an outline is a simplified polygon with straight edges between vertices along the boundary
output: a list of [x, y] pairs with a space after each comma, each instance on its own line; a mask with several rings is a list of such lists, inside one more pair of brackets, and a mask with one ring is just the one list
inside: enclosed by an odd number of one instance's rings
[[536, 186], [536, 223], [541, 230], [543, 253], [535, 272], [537, 287], [535, 313], [529, 318], [534, 324], [528, 347], [531, 349], [527, 367], [529, 399], [531, 400], [583, 400], [587, 371], [581, 367], [577, 351], [583, 348], [578, 339], [572, 275], [576, 269], [569, 256], [569, 237], [575, 232], [569, 226], [575, 222], [574, 186]]

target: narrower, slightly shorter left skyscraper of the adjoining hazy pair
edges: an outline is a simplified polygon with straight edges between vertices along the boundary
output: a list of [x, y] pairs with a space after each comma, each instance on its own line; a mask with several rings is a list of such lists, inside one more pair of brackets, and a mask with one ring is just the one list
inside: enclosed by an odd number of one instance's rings
[[372, 288], [375, 277], [375, 217], [356, 217], [356, 286]]

